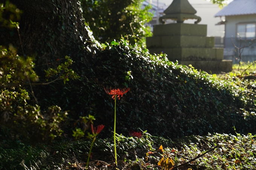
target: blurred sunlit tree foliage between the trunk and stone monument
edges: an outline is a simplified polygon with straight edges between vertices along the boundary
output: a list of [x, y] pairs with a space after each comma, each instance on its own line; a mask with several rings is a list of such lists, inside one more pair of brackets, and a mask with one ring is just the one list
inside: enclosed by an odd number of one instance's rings
[[142, 9], [143, 1], [81, 0], [85, 21], [98, 41], [110, 43], [132, 35], [129, 39], [139, 44], [152, 34], [150, 27], [145, 26], [152, 19], [150, 6]]

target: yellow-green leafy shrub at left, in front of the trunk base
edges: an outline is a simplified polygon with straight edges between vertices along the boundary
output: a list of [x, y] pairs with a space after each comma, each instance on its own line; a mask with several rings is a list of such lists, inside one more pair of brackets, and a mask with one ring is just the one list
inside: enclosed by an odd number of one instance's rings
[[[14, 135], [18, 140], [21, 135], [23, 140], [35, 145], [62, 134], [61, 126], [67, 118], [67, 111], [61, 111], [57, 105], [41, 109], [32, 85], [43, 86], [55, 80], [63, 80], [65, 84], [69, 78], [78, 78], [72, 69], [68, 69], [73, 61], [69, 57], [66, 60], [56, 69], [46, 70], [45, 82], [38, 82], [31, 57], [18, 56], [11, 46], [10, 50], [0, 46], [0, 129], [11, 129], [5, 139]], [[53, 81], [48, 81], [52, 78]]]

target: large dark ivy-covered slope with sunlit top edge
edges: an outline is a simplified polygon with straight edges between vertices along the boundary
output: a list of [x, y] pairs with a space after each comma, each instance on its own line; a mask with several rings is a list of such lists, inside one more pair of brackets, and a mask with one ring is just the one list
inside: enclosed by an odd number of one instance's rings
[[256, 102], [246, 101], [230, 82], [169, 62], [164, 54], [151, 55], [125, 40], [104, 49], [95, 47], [87, 47], [88, 55], [73, 59], [79, 80], [37, 90], [41, 105], [58, 105], [76, 119], [92, 114], [95, 123], [110, 132], [114, 100], [104, 87], [127, 86], [131, 90], [117, 100], [119, 134], [141, 128], [172, 138], [230, 133], [233, 126], [240, 133], [255, 132]]

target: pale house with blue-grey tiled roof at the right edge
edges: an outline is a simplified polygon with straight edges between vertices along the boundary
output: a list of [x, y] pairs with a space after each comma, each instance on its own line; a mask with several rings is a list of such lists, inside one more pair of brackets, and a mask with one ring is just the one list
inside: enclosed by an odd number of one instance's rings
[[256, 37], [256, 0], [234, 0], [215, 17], [222, 17], [219, 24], [225, 26], [224, 59], [238, 63], [239, 50], [234, 46], [241, 48], [249, 45], [242, 51], [241, 59], [245, 62], [255, 61], [256, 43], [252, 43]]

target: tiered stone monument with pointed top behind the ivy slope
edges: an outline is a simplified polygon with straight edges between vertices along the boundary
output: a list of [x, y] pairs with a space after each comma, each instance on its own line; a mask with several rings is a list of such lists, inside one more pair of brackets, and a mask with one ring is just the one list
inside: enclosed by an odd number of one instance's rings
[[[146, 38], [149, 53], [167, 54], [170, 61], [192, 65], [208, 73], [232, 71], [232, 60], [223, 60], [223, 48], [214, 48], [214, 37], [207, 37], [207, 25], [197, 24], [201, 18], [187, 0], [173, 0], [159, 18], [161, 25], [154, 25], [153, 36]], [[177, 23], [165, 24], [164, 19]], [[197, 19], [195, 24], [184, 20]]]

